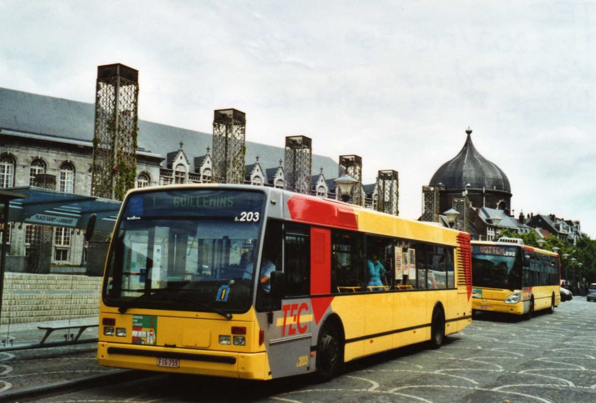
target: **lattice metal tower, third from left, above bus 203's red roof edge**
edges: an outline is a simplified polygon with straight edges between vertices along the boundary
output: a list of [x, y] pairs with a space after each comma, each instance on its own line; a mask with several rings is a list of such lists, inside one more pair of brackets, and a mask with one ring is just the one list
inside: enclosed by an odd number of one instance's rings
[[285, 138], [286, 189], [310, 194], [312, 189], [312, 139], [306, 136]]

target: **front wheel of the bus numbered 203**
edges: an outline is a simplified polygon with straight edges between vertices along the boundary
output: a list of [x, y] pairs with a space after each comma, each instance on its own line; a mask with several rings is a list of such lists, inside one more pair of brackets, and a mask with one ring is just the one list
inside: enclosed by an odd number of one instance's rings
[[342, 339], [337, 326], [325, 323], [319, 336], [316, 354], [316, 374], [321, 382], [327, 382], [337, 375], [343, 363]]

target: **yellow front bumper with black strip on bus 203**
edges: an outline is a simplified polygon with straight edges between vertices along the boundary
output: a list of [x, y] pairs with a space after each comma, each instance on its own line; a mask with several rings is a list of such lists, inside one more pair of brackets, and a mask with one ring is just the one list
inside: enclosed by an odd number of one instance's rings
[[[174, 358], [178, 360], [179, 367], [159, 366], [158, 358]], [[241, 379], [271, 379], [265, 352], [237, 353], [99, 342], [97, 361], [105, 367]]]

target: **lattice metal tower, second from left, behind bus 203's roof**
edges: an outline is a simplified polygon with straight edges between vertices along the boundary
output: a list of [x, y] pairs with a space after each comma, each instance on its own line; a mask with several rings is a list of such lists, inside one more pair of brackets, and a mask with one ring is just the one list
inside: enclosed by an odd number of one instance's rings
[[246, 114], [235, 109], [213, 113], [213, 183], [244, 183]]

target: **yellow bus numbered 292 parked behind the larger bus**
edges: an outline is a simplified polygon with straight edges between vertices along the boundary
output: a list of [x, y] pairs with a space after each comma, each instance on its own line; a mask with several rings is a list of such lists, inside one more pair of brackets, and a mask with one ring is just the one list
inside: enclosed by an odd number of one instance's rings
[[523, 244], [522, 239], [472, 242], [472, 305], [476, 311], [524, 315], [561, 302], [558, 254]]

